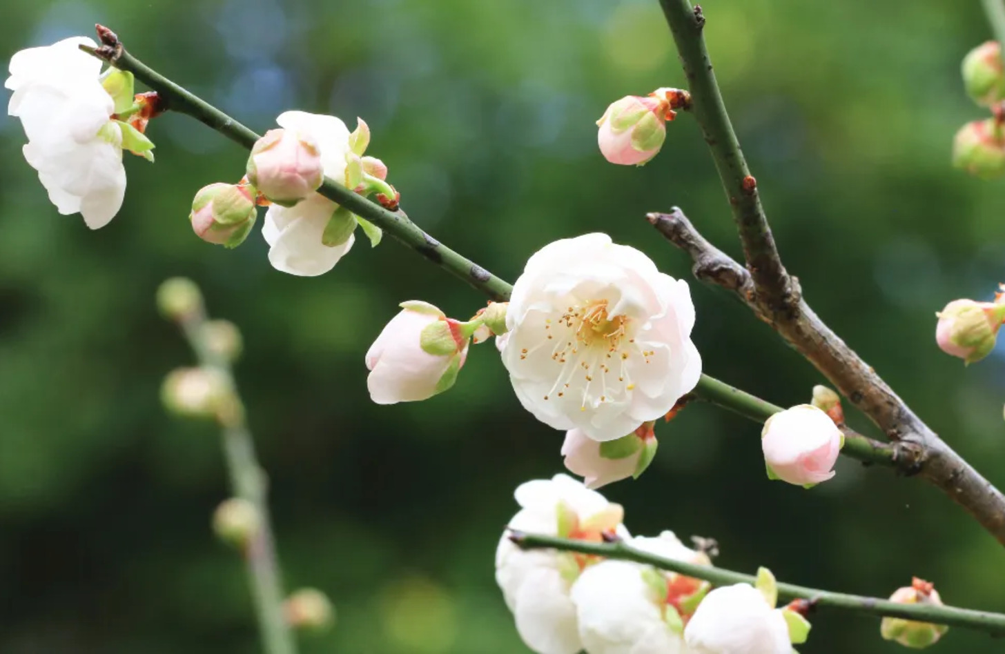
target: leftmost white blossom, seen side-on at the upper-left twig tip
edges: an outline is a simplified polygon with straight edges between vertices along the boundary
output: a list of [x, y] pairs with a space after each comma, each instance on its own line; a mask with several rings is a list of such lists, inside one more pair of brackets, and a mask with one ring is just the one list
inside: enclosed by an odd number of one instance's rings
[[102, 85], [102, 62], [75, 36], [16, 52], [4, 85], [14, 91], [7, 113], [21, 120], [24, 158], [63, 215], [79, 213], [91, 229], [104, 227], [126, 194], [123, 132], [112, 120], [115, 101]]

